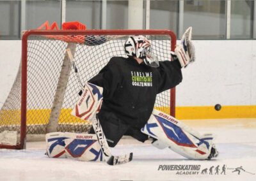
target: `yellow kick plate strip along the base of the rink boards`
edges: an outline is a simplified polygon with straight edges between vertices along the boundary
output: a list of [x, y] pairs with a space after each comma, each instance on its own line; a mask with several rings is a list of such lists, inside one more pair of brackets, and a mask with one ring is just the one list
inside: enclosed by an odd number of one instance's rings
[[[156, 107], [164, 113], [170, 114], [170, 107]], [[63, 108], [60, 113], [60, 124], [79, 124], [87, 122], [72, 116], [71, 108]], [[213, 106], [182, 106], [176, 108], [176, 117], [180, 120], [188, 119], [239, 119], [255, 118], [256, 106], [222, 106], [220, 111], [214, 110]], [[35, 109], [27, 111], [27, 124], [47, 124], [51, 109]], [[0, 126], [20, 124], [20, 110], [1, 110], [4, 118]]]

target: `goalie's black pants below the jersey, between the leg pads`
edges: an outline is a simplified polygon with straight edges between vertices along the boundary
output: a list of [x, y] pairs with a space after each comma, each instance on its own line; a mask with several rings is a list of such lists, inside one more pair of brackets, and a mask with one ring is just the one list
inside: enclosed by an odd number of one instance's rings
[[[148, 135], [141, 133], [140, 128], [125, 124], [122, 120], [118, 119], [114, 113], [100, 112], [97, 116], [109, 147], [115, 147], [124, 135], [132, 136], [141, 142], [148, 140]], [[89, 133], [95, 133], [93, 127], [90, 129]]]

